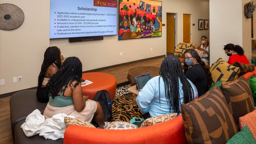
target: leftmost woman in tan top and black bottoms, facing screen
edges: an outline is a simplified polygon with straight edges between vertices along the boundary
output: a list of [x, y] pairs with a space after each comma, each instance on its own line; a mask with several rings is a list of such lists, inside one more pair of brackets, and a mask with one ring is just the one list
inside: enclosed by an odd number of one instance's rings
[[44, 61], [41, 66], [41, 71], [38, 76], [38, 84], [36, 96], [40, 102], [49, 101], [49, 91], [46, 90], [46, 84], [50, 77], [55, 74], [61, 66], [63, 55], [58, 47], [48, 47], [44, 52]]

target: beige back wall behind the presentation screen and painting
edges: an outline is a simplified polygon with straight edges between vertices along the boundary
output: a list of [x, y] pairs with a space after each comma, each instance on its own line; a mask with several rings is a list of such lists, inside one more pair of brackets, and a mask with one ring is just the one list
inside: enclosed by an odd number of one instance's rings
[[[0, 79], [5, 79], [0, 94], [37, 86], [43, 54], [49, 46], [59, 47], [64, 57], [79, 57], [83, 71], [166, 54], [166, 26], [162, 27], [162, 37], [157, 38], [119, 41], [116, 35], [104, 36], [100, 41], [69, 43], [68, 39], [49, 40], [49, 0], [1, 0], [2, 3], [20, 7], [25, 19], [15, 30], [0, 30]], [[198, 45], [202, 35], [211, 41], [209, 30], [198, 31], [198, 19], [209, 19], [209, 0], [162, 0], [162, 5], [163, 24], [166, 13], [177, 13], [177, 42], [183, 40], [183, 14], [192, 14], [192, 43]], [[126, 55], [120, 56], [124, 51]], [[12, 83], [13, 77], [18, 76], [22, 76], [22, 82]]]

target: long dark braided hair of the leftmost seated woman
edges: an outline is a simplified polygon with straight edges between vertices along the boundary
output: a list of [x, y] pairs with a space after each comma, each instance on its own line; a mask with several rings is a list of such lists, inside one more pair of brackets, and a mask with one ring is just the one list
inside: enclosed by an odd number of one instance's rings
[[42, 63], [41, 71], [38, 76], [37, 88], [41, 87], [48, 67], [53, 63], [57, 66], [58, 69], [60, 68], [60, 51], [59, 48], [56, 46], [48, 47], [44, 52], [44, 61]]

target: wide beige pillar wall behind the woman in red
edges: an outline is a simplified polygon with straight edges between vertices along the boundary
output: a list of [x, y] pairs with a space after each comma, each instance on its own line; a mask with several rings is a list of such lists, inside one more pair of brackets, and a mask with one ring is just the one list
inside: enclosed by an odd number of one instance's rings
[[228, 60], [223, 44], [233, 43], [245, 50], [251, 61], [251, 19], [244, 16], [244, 4], [250, 0], [209, 0], [210, 5], [210, 63], [219, 57]]

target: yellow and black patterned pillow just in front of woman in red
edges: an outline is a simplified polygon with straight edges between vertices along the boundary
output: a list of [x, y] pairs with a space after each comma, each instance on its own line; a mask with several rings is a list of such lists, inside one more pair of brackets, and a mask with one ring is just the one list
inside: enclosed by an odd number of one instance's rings
[[240, 68], [232, 66], [221, 57], [210, 68], [213, 83], [221, 80], [222, 84], [238, 78]]

